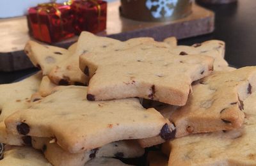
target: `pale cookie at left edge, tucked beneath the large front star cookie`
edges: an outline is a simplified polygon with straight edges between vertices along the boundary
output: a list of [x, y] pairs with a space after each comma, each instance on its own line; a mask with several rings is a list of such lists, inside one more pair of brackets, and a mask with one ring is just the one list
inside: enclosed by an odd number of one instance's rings
[[17, 146], [31, 142], [29, 136], [7, 133], [3, 121], [13, 112], [29, 107], [30, 96], [38, 90], [41, 79], [42, 73], [39, 72], [20, 82], [0, 85], [0, 142]]

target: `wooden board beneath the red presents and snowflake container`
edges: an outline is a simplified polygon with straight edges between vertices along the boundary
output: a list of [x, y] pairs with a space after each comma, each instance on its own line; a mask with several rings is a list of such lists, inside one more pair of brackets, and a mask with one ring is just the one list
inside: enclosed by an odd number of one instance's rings
[[[107, 29], [98, 35], [122, 41], [150, 36], [162, 41], [168, 36], [181, 39], [211, 33], [214, 30], [214, 13], [196, 4], [192, 6], [191, 15], [171, 22], [139, 22], [125, 19], [119, 14], [119, 6], [119, 1], [108, 3]], [[33, 67], [23, 52], [26, 41], [33, 40], [28, 35], [26, 17], [0, 20], [0, 29], [0, 71], [11, 72]], [[76, 40], [77, 36], [54, 45], [67, 48]]]

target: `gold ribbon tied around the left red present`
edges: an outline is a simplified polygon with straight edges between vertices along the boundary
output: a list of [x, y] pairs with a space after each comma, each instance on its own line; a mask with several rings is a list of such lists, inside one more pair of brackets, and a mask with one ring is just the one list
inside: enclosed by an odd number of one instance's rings
[[[54, 8], [54, 10], [56, 10], [56, 14], [58, 15], [58, 17], [60, 17], [60, 26], [61, 26], [61, 35], [63, 35], [63, 20], [62, 20], [62, 17], [61, 17], [61, 11], [58, 9], [58, 6], [56, 3], [41, 3], [41, 4], [38, 4], [38, 7], [39, 9], [36, 11], [36, 17], [37, 17], [37, 20], [38, 20], [38, 24], [39, 24], [39, 33], [40, 33], [40, 38], [42, 40], [43, 38], [43, 35], [42, 35], [42, 24], [41, 24], [41, 20], [40, 20], [40, 12], [42, 11], [46, 11], [46, 13], [50, 13], [50, 10], [49, 8]], [[49, 31], [50, 33], [50, 31]]]

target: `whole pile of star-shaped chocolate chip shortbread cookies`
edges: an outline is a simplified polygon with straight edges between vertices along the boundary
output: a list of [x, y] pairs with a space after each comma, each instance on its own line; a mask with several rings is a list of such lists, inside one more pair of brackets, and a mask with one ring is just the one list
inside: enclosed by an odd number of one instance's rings
[[83, 32], [25, 52], [41, 71], [0, 85], [0, 165], [256, 165], [256, 67], [223, 41]]

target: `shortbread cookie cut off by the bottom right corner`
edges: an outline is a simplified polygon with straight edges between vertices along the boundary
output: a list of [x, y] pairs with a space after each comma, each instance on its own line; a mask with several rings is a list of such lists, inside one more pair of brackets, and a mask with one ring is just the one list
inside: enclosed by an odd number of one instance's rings
[[163, 144], [169, 165], [256, 165], [256, 93], [244, 100], [244, 124], [232, 131], [189, 135]]

